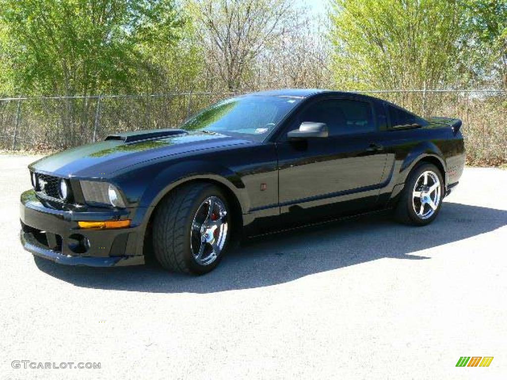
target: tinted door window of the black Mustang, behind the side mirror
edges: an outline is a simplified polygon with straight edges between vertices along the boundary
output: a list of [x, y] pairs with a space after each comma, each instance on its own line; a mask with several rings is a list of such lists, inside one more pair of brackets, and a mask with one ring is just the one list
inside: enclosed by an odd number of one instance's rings
[[325, 123], [330, 136], [375, 130], [370, 103], [351, 99], [325, 99], [306, 108], [299, 122]]

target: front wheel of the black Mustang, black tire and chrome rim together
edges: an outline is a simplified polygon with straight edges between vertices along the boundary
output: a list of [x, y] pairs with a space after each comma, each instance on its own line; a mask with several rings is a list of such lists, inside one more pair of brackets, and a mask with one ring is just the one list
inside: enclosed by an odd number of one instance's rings
[[155, 210], [156, 259], [172, 272], [202, 275], [212, 271], [229, 245], [229, 210], [226, 197], [212, 184], [175, 188]]

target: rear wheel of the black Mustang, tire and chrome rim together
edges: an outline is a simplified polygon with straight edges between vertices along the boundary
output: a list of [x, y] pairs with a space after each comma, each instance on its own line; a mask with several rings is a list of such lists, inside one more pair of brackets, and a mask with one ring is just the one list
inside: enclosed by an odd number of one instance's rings
[[396, 206], [396, 219], [405, 224], [426, 225], [440, 212], [444, 198], [444, 181], [432, 164], [417, 166], [410, 173]]

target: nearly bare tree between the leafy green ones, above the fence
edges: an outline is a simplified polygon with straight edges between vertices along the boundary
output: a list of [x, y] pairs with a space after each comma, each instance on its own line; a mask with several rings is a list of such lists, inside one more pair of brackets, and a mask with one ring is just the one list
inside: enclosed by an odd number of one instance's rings
[[[229, 91], [255, 75], [256, 59], [286, 30], [291, 14], [287, 0], [198, 0], [192, 14], [200, 25], [211, 80], [218, 77]], [[211, 87], [212, 82], [209, 81]]]

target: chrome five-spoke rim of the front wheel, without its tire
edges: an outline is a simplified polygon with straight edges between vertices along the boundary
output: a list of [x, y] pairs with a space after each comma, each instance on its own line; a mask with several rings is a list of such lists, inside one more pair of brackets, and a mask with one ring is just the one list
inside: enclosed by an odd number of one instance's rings
[[190, 249], [195, 261], [209, 265], [220, 256], [227, 240], [227, 208], [218, 197], [206, 198], [194, 216]]

